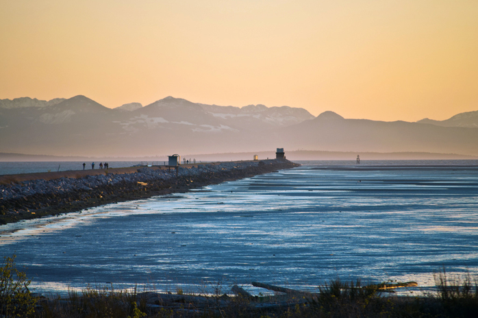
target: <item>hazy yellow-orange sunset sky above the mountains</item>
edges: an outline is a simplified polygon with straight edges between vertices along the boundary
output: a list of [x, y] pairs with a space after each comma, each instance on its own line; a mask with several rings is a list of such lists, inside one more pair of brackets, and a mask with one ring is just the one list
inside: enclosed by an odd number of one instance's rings
[[0, 0], [0, 99], [478, 110], [478, 1]]

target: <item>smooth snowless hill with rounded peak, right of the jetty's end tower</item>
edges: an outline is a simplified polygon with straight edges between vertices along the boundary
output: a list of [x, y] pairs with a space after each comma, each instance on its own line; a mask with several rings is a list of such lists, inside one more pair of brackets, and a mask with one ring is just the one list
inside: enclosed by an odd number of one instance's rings
[[275, 130], [274, 136], [288, 149], [478, 155], [477, 128], [344, 119], [333, 112]]

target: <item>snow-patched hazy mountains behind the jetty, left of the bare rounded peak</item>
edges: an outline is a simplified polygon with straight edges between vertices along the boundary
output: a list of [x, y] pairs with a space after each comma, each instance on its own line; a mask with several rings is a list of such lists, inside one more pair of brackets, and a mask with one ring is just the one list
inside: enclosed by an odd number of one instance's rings
[[257, 132], [314, 118], [301, 108], [224, 107], [174, 97], [114, 109], [82, 95], [21, 101], [3, 100], [8, 107], [0, 107], [0, 151], [82, 157], [239, 151], [254, 147]]

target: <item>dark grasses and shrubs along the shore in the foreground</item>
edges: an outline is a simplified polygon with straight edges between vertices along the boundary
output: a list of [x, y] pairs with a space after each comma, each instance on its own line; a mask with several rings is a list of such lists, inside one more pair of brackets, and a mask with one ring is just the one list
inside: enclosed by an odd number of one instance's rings
[[[5, 257], [0, 268], [0, 317], [477, 317], [478, 284], [470, 276], [436, 274], [437, 292], [426, 297], [383, 295], [383, 284], [362, 286], [360, 281], [334, 280], [318, 293], [284, 289], [274, 296], [222, 294], [183, 295], [178, 289], [160, 294], [87, 288], [68, 297], [47, 299], [30, 293], [25, 273], [18, 271], [15, 257]], [[388, 285], [387, 285], [388, 286]], [[236, 286], [237, 287], [237, 286]], [[236, 289], [237, 291], [237, 289]]]

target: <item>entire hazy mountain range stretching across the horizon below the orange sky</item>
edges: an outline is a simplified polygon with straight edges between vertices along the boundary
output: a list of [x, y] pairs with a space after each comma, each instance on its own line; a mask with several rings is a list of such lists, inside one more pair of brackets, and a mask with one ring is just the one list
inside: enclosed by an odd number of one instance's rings
[[[51, 156], [158, 156], [289, 150], [430, 152], [478, 156], [478, 111], [445, 121], [314, 117], [303, 108], [192, 103], [166, 97], [106, 108], [78, 95], [0, 99], [0, 152]], [[320, 159], [320, 158], [318, 158]]]

